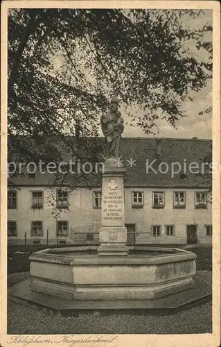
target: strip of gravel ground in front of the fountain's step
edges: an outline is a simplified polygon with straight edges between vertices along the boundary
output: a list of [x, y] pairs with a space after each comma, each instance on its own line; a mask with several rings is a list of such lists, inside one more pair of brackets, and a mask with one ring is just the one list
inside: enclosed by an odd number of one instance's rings
[[170, 316], [114, 314], [78, 317], [48, 316], [17, 303], [8, 303], [8, 334], [200, 334], [211, 333], [212, 304]]

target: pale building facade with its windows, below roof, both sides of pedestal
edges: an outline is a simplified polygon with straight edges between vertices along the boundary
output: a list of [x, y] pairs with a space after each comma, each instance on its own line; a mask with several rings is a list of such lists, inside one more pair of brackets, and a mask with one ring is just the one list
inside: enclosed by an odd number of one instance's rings
[[[211, 243], [212, 213], [206, 192], [125, 188], [128, 244]], [[64, 193], [58, 189], [58, 208], [62, 212], [55, 219], [46, 203], [47, 189], [22, 187], [17, 192], [9, 191], [8, 243], [24, 244], [25, 233], [28, 244], [46, 244], [47, 237], [48, 244], [98, 243], [102, 191], [79, 188]]]

